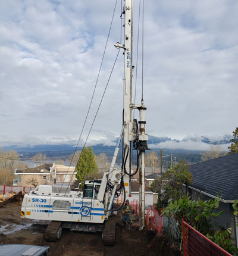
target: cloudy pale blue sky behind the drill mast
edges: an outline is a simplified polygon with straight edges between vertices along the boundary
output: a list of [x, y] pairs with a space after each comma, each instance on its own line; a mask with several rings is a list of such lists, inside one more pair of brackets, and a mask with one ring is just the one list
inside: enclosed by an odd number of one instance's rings
[[[114, 5], [112, 0], [1, 1], [0, 146], [79, 138]], [[118, 0], [84, 138], [117, 55], [120, 5]], [[134, 0], [135, 66], [138, 8]], [[147, 133], [177, 139], [231, 135], [237, 127], [238, 2], [146, 0], [144, 8]], [[137, 103], [141, 32], [139, 42]], [[89, 141], [118, 136], [122, 104], [120, 52]]]

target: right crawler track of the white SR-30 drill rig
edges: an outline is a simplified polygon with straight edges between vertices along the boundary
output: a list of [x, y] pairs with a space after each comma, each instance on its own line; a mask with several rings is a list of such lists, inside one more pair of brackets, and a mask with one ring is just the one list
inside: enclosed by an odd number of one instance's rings
[[105, 223], [102, 242], [107, 246], [115, 245], [115, 217], [111, 216]]

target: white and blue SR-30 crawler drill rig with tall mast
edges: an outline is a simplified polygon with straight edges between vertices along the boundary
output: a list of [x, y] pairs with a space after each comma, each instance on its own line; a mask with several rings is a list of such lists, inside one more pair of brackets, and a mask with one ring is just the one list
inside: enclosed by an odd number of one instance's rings
[[[70, 186], [40, 185], [25, 195], [21, 205], [21, 217], [37, 220], [51, 220], [46, 229], [45, 239], [57, 241], [62, 228], [86, 232], [102, 232], [105, 245], [114, 245], [115, 219], [114, 198], [123, 193], [124, 202], [130, 196], [131, 145], [137, 152], [139, 171], [139, 228], [145, 223], [145, 151], [148, 149], [148, 135], [145, 133], [145, 110], [141, 104], [132, 103], [132, 0], [126, 0], [124, 15], [124, 44], [115, 43], [124, 50], [124, 108], [123, 128], [118, 139], [109, 170], [101, 180], [86, 180], [83, 192], [71, 191]], [[140, 120], [132, 120], [132, 111], [139, 110]], [[123, 164], [115, 169], [115, 162], [123, 138]], [[120, 188], [118, 189], [118, 185]], [[120, 191], [120, 192], [119, 192]], [[123, 202], [123, 204], [124, 204]]]

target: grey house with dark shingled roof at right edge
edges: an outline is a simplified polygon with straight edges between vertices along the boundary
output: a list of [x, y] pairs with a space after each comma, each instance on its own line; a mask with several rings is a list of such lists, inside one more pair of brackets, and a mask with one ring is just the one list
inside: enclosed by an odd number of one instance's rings
[[238, 153], [193, 164], [189, 169], [193, 182], [188, 187], [192, 198], [204, 200], [221, 197], [220, 209], [224, 211], [217, 223], [224, 229], [232, 228], [231, 236], [238, 247], [237, 216], [232, 204], [238, 199]]

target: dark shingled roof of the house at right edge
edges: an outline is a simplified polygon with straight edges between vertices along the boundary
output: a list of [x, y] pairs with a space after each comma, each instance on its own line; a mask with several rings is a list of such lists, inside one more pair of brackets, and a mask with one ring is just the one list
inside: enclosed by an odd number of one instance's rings
[[189, 169], [193, 175], [193, 188], [224, 200], [238, 199], [238, 153], [193, 164]]

